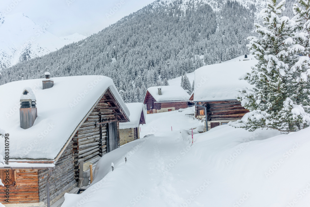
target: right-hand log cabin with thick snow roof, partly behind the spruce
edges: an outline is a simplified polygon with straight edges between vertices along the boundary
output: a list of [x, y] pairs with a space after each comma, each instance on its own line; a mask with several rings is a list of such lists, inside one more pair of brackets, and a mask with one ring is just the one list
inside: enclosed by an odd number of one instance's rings
[[[257, 60], [207, 65], [195, 70], [195, 86], [191, 101], [196, 105], [196, 117], [207, 114], [208, 130], [241, 119], [247, 112], [237, 101], [239, 89], [250, 87], [239, 77], [251, 71]], [[207, 129], [206, 129], [207, 130]]]

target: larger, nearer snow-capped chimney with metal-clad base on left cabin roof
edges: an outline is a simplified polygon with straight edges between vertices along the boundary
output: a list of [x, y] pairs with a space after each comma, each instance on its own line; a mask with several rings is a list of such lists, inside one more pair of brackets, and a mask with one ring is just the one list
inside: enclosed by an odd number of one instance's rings
[[26, 87], [20, 96], [20, 127], [28, 129], [33, 126], [38, 116], [36, 97], [31, 88]]

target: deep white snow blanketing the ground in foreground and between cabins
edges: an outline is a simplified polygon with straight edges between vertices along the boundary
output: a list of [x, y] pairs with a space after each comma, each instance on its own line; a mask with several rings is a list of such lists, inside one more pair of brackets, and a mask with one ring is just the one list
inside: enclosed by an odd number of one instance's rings
[[191, 146], [191, 131], [180, 130], [200, 123], [185, 112], [147, 119], [141, 134], [155, 136], [101, 158], [93, 184], [80, 195], [66, 194], [63, 207], [309, 206], [310, 128], [280, 135], [223, 125], [194, 134]]

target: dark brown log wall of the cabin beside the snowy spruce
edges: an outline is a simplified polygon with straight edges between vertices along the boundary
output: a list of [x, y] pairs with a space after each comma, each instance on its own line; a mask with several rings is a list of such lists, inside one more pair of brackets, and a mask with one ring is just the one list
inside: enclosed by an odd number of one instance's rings
[[211, 121], [241, 119], [249, 112], [237, 100], [211, 101], [205, 102], [204, 105], [207, 106], [207, 114], [211, 118]]

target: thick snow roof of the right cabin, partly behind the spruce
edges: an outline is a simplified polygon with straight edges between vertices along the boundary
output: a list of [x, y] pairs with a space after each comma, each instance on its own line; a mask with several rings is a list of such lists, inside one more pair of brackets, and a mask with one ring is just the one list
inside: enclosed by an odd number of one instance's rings
[[217, 101], [236, 99], [238, 89], [250, 84], [239, 80], [251, 72], [258, 60], [224, 62], [206, 65], [195, 70], [194, 101]]

